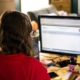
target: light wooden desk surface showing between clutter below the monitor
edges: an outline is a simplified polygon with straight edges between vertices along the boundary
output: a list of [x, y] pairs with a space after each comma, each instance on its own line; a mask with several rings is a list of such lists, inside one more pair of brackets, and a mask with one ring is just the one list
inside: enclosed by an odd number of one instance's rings
[[[56, 54], [40, 53], [39, 56], [40, 56], [40, 61], [53, 60], [53, 59], [54, 59], [54, 62], [59, 61], [59, 60], [61, 60], [61, 61], [70, 60], [70, 58], [65, 55], [60, 56], [60, 55], [56, 55]], [[76, 57], [74, 57], [74, 59], [76, 59]], [[67, 74], [67, 72], [69, 72], [69, 66], [66, 66], [63, 68], [60, 68], [59, 65], [57, 65], [56, 67], [55, 66], [51, 66], [51, 67], [45, 66], [45, 67], [48, 69], [48, 72], [51, 72], [51, 71], [56, 72], [59, 75], [58, 78], [60, 78], [60, 79], [53, 78], [51, 80], [73, 80], [74, 76], [78, 75], [77, 73], [72, 73], [69, 78], [64, 78], [64, 76]]]

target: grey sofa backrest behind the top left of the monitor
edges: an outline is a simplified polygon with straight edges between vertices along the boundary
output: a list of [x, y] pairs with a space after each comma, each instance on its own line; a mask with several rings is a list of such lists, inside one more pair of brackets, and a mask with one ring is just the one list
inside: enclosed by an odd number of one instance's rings
[[45, 7], [43, 9], [39, 9], [36, 11], [28, 11], [27, 14], [30, 16], [31, 21], [38, 22], [38, 15], [43, 14], [50, 14], [50, 13], [56, 13], [57, 9], [54, 5], [49, 5], [48, 7]]

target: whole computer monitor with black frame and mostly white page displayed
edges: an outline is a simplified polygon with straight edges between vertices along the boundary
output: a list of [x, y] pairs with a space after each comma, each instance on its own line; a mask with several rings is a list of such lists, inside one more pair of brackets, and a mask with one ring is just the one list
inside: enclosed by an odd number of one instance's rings
[[39, 16], [41, 52], [80, 54], [80, 17]]

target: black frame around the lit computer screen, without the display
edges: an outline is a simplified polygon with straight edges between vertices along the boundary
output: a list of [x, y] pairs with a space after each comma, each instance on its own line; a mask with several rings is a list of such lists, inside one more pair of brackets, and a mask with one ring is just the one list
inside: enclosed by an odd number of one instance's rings
[[39, 25], [39, 38], [40, 38], [40, 52], [43, 52], [43, 53], [51, 53], [51, 54], [59, 54], [59, 55], [80, 55], [80, 54], [72, 54], [72, 53], [64, 53], [64, 52], [55, 52], [55, 51], [45, 51], [45, 50], [42, 50], [42, 37], [41, 37], [41, 24], [40, 24], [40, 19], [41, 18], [54, 18], [54, 19], [76, 19], [76, 20], [79, 20], [80, 17], [78, 16], [52, 16], [52, 15], [39, 15], [38, 16], [38, 25]]

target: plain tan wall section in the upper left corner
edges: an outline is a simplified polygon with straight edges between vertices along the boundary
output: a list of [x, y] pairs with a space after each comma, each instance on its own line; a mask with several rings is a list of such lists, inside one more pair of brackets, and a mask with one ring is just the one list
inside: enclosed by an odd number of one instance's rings
[[5, 10], [15, 10], [15, 0], [0, 0], [0, 15]]

